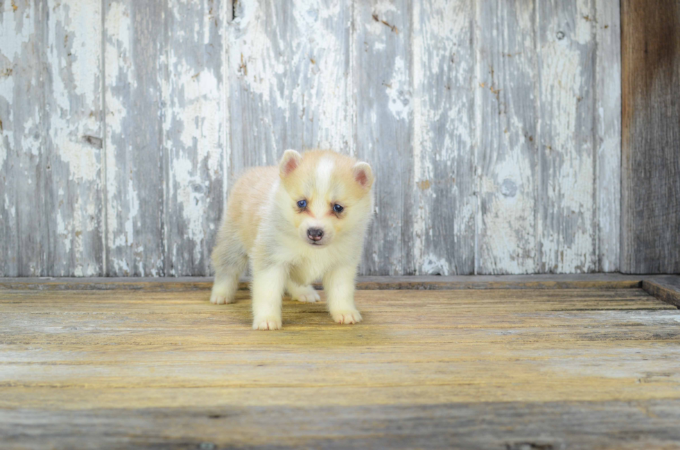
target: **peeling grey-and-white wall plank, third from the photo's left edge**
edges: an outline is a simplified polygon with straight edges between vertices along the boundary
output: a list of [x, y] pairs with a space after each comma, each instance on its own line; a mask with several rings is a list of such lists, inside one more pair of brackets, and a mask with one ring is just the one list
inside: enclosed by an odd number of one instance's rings
[[166, 1], [105, 3], [106, 275], [165, 275]]

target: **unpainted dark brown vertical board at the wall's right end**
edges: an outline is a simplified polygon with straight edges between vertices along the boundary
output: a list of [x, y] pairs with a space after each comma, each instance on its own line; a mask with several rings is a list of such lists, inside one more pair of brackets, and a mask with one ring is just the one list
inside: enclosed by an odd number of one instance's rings
[[680, 273], [680, 6], [621, 10], [621, 270]]

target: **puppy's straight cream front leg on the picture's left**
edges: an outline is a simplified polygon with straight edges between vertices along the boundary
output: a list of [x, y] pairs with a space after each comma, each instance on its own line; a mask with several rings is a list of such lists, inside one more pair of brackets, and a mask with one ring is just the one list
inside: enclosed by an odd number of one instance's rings
[[253, 329], [281, 328], [281, 297], [286, 278], [284, 266], [258, 268], [253, 264]]

